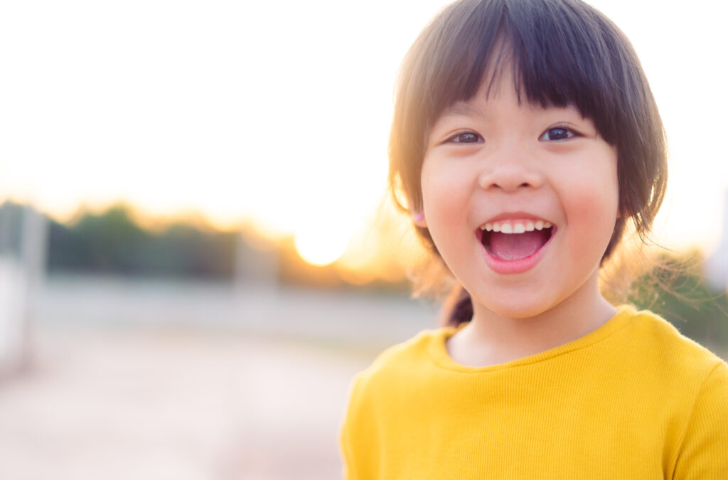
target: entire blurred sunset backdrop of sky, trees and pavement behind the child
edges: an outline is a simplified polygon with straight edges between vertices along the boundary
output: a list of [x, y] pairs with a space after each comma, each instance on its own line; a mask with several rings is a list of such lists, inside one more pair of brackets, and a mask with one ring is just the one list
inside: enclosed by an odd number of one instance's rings
[[[1, 479], [340, 477], [353, 375], [438, 326], [384, 198], [447, 3], [0, 3]], [[660, 267], [606, 293], [725, 355], [725, 7], [591, 3], [670, 143]]]

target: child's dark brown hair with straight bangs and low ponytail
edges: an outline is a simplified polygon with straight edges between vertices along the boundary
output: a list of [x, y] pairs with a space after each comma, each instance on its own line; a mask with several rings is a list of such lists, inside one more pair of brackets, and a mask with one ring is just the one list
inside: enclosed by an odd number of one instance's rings
[[[645, 242], [667, 184], [665, 131], [630, 42], [579, 0], [460, 0], [427, 25], [405, 56], [395, 91], [389, 186], [397, 205], [422, 211], [420, 176], [430, 129], [485, 82], [489, 90], [506, 67], [513, 68], [519, 101], [575, 106], [616, 149], [620, 215], [602, 262], [628, 221]], [[397, 200], [402, 196], [406, 205]], [[416, 232], [439, 257], [427, 228]], [[445, 308], [447, 324], [472, 317], [462, 286], [455, 286]]]

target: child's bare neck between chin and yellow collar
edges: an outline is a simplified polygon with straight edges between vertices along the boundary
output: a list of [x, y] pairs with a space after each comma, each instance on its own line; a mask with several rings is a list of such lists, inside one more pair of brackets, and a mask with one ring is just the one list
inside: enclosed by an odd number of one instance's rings
[[494, 365], [550, 350], [604, 325], [616, 310], [598, 291], [596, 272], [563, 302], [528, 318], [510, 318], [473, 302], [473, 318], [448, 342], [455, 361]]

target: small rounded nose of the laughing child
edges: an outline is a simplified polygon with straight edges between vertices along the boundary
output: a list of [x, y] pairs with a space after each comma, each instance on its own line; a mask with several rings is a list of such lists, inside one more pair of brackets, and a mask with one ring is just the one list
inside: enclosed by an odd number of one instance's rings
[[478, 182], [482, 189], [501, 189], [515, 192], [519, 189], [537, 189], [544, 183], [543, 173], [536, 165], [537, 159], [526, 152], [510, 149], [499, 152], [484, 161]]

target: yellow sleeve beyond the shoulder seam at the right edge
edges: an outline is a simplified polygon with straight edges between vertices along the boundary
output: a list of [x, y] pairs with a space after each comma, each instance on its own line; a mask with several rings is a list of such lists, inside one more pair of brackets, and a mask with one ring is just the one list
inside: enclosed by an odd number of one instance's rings
[[676, 480], [728, 479], [728, 365], [703, 381], [676, 460]]

